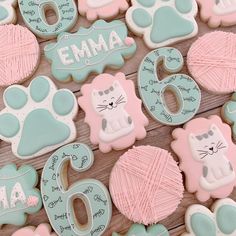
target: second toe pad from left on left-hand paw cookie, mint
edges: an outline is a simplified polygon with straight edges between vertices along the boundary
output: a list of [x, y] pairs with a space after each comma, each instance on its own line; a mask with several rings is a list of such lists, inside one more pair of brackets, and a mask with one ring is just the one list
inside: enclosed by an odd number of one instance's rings
[[6, 105], [13, 109], [21, 109], [27, 103], [26, 93], [20, 87], [9, 87], [5, 93], [4, 98]]

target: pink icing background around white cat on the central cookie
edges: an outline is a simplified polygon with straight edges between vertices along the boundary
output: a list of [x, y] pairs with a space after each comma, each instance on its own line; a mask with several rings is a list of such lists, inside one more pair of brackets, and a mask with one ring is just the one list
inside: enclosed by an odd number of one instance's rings
[[[131, 117], [133, 128], [130, 132], [119, 136], [119, 138], [114, 139], [113, 141], [103, 141], [101, 138], [102, 121], [106, 118], [100, 116], [95, 111], [92, 104], [92, 94], [94, 90], [106, 90], [116, 82], [119, 82], [120, 87], [122, 87], [126, 93], [127, 98], [125, 100], [127, 100], [127, 102], [126, 104], [122, 104], [125, 106], [123, 111]], [[82, 96], [78, 98], [78, 102], [86, 113], [85, 122], [90, 126], [90, 140], [94, 145], [99, 145], [102, 152], [107, 153], [112, 149], [125, 149], [133, 145], [136, 139], [141, 140], [146, 137], [145, 126], [148, 125], [148, 119], [142, 112], [142, 102], [135, 94], [134, 83], [131, 80], [126, 80], [123, 73], [118, 73], [115, 76], [109, 74], [99, 75], [91, 84], [82, 86], [81, 92]], [[121, 114], [118, 113], [117, 115]], [[113, 124], [116, 126], [116, 121], [119, 119], [115, 117], [114, 120], [115, 122], [113, 122]], [[114, 126], [112, 128], [117, 130]], [[118, 132], [115, 131], [114, 133], [117, 134]]]

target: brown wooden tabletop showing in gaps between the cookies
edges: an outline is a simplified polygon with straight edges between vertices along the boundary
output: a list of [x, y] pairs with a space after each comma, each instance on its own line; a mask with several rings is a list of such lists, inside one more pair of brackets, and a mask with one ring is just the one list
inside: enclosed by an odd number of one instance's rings
[[[18, 15], [18, 24], [24, 25], [24, 23], [22, 21], [22, 17], [19, 14], [19, 9], [17, 9], [17, 15]], [[120, 15], [119, 17], [117, 17], [117, 19], [124, 21], [124, 15]], [[54, 14], [52, 14], [52, 12], [48, 12], [48, 20], [55, 21]], [[197, 18], [197, 21], [199, 24], [198, 36], [204, 35], [210, 31], [212, 31], [212, 29], [208, 28], [208, 26], [206, 24], [202, 23], [199, 18]], [[71, 32], [77, 31], [80, 26], [88, 27], [89, 25], [90, 25], [90, 23], [87, 20], [85, 20], [85, 18], [80, 17], [76, 26], [73, 28], [73, 30]], [[224, 28], [222, 30], [231, 31], [231, 32], [236, 33], [236, 27]], [[144, 45], [143, 40], [141, 38], [135, 37], [131, 33], [130, 33], [130, 35], [135, 38], [135, 41], [137, 43], [137, 46], [138, 46], [137, 53], [132, 59], [130, 59], [126, 62], [125, 66], [120, 71], [124, 72], [128, 79], [131, 79], [135, 82], [136, 89], [137, 89], [137, 70], [138, 70], [141, 60], [150, 50]], [[193, 38], [193, 39], [184, 41], [182, 43], [176, 44], [176, 45], [174, 45], [174, 47], [178, 48], [182, 52], [183, 56], [186, 58], [186, 54], [188, 52], [188, 49], [195, 40], [196, 40], [196, 38]], [[43, 52], [45, 45], [47, 45], [49, 42], [51, 42], [53, 40], [50, 41], [50, 40], [38, 39], [38, 41], [40, 43], [40, 49], [41, 49], [41, 61], [40, 61], [40, 65], [39, 65], [36, 73], [32, 76], [32, 78], [34, 78], [38, 75], [46, 75], [46, 76], [53, 78], [51, 75], [50, 64], [46, 60], [46, 58], [44, 56], [44, 52]], [[111, 74], [115, 74], [117, 71], [106, 70], [106, 72], [111, 73]], [[184, 67], [182, 72], [188, 74], [186, 66]], [[87, 80], [87, 82], [88, 83], [91, 82], [92, 78], [93, 78], [93, 76], [90, 76], [90, 78]], [[30, 80], [26, 81], [24, 83], [24, 85], [27, 86], [29, 84], [29, 82], [30, 82]], [[70, 90], [72, 90], [74, 92], [74, 94], [77, 97], [80, 96], [80, 85], [79, 84], [76, 84], [74, 82], [62, 84], [62, 83], [58, 83], [56, 80], [54, 80], [54, 82], [57, 84], [57, 86], [59, 88], [69, 88]], [[2, 109], [4, 107], [3, 100], [2, 100], [3, 91], [4, 91], [3, 89], [0, 90], [0, 93], [1, 93], [0, 94], [1, 95], [0, 96], [0, 98], [1, 98], [0, 99], [0, 109]], [[138, 91], [137, 91], [137, 94], [138, 94]], [[202, 102], [201, 102], [201, 107], [200, 107], [200, 110], [198, 111], [197, 117], [208, 117], [209, 115], [220, 114], [221, 106], [226, 101], [229, 100], [230, 96], [231, 96], [231, 94], [216, 96], [216, 95], [211, 95], [205, 91], [202, 91]], [[175, 102], [174, 102], [173, 97], [169, 96], [169, 98], [170, 98], [169, 105], [174, 106]], [[147, 137], [142, 141], [136, 142], [135, 145], [136, 146], [138, 146], [138, 145], [153, 145], [153, 146], [158, 146], [158, 147], [167, 149], [171, 152], [171, 149], [170, 149], [170, 142], [172, 140], [171, 132], [174, 129], [174, 127], [164, 126], [164, 125], [154, 121], [146, 113], [146, 111], [145, 111], [145, 114], [147, 115], [147, 117], [150, 120], [150, 124], [147, 127], [147, 132], [148, 132]], [[93, 167], [85, 173], [78, 174], [73, 170], [69, 170], [69, 177], [68, 178], [69, 178], [70, 184], [79, 180], [79, 179], [83, 179], [83, 178], [95, 178], [97, 180], [102, 181], [106, 186], [108, 186], [111, 169], [114, 166], [114, 164], [116, 163], [116, 161], [118, 160], [119, 156], [122, 155], [126, 150], [119, 151], [119, 152], [112, 151], [108, 154], [103, 154], [98, 150], [97, 146], [92, 145], [89, 140], [89, 127], [87, 126], [87, 124], [84, 123], [84, 112], [81, 109], [79, 110], [78, 116], [76, 118], [76, 127], [77, 127], [77, 131], [78, 131], [76, 141], [88, 144], [93, 149], [93, 152], [95, 155], [95, 162], [94, 162]], [[17, 164], [18, 167], [22, 164], [31, 164], [32, 166], [34, 166], [34, 168], [37, 169], [39, 175], [41, 175], [42, 168], [44, 167], [44, 164], [50, 155], [51, 155], [51, 153], [48, 153], [47, 155], [44, 155], [44, 156], [41, 156], [41, 157], [38, 157], [38, 158], [35, 158], [32, 160], [22, 161], [20, 159], [17, 159], [16, 157], [14, 157], [14, 155], [12, 154], [12, 151], [11, 151], [11, 146], [9, 144], [7, 144], [3, 141], [0, 141], [0, 166], [1, 167], [8, 164], [8, 163], [12, 163], [12, 162]], [[177, 157], [174, 154], [173, 154], [173, 156], [175, 157], [176, 161], [178, 161]], [[234, 193], [232, 194], [231, 197], [234, 200], [236, 200], [236, 191], [234, 191]], [[209, 200], [208, 202], [205, 203], [205, 205], [210, 206], [212, 204], [212, 202], [213, 202], [212, 200]], [[86, 214], [85, 214], [85, 210], [83, 208], [83, 204], [80, 201], [77, 201], [77, 203], [78, 204], [75, 204], [76, 205], [75, 208], [80, 210], [80, 215], [78, 216], [79, 221], [81, 223], [85, 223], [86, 222]], [[170, 217], [168, 217], [167, 219], [165, 219], [161, 222], [168, 228], [168, 230], [170, 231], [170, 235], [177, 236], [177, 235], [180, 235], [181, 233], [184, 232], [184, 230], [185, 230], [185, 226], [184, 226], [185, 211], [188, 206], [190, 206], [191, 204], [194, 204], [194, 203], [198, 203], [198, 201], [196, 200], [194, 195], [185, 192], [184, 199], [183, 199], [182, 203], [180, 204], [179, 208], [177, 209], [177, 211], [174, 214], [172, 214]], [[46, 215], [44, 209], [42, 209], [37, 214], [31, 215], [28, 217], [27, 225], [37, 226], [38, 224], [45, 223], [45, 222], [48, 222], [48, 218], [47, 218], [47, 215]], [[127, 220], [116, 209], [116, 207], [113, 206], [113, 215], [112, 215], [111, 224], [104, 235], [110, 236], [113, 231], [125, 233], [129, 229], [131, 224], [132, 224], [132, 222]], [[15, 227], [15, 226], [5, 225], [0, 230], [0, 236], [9, 236], [16, 230], [17, 230], [17, 227]]]

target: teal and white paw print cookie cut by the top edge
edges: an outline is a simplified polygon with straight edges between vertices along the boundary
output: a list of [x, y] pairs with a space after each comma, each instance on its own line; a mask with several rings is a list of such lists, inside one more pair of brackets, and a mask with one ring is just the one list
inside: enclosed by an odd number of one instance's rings
[[127, 24], [144, 37], [149, 48], [164, 47], [198, 32], [195, 0], [132, 0], [132, 5], [126, 13]]

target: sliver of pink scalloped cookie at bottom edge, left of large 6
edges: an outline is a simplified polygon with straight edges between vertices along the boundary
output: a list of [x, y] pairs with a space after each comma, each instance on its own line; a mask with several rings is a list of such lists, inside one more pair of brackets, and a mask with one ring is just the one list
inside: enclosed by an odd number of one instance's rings
[[51, 233], [51, 226], [49, 224], [41, 224], [37, 228], [25, 227], [17, 230], [12, 236], [57, 236], [55, 233]]

